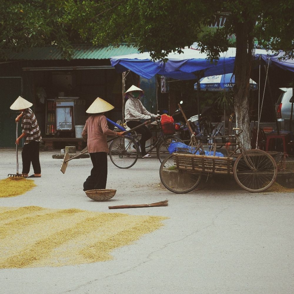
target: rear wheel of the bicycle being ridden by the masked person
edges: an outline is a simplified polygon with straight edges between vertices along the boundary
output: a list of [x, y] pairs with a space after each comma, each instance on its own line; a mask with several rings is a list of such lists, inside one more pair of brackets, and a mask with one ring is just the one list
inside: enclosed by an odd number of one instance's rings
[[110, 160], [118, 168], [132, 167], [138, 160], [139, 154], [138, 144], [132, 137], [117, 137], [109, 145]]

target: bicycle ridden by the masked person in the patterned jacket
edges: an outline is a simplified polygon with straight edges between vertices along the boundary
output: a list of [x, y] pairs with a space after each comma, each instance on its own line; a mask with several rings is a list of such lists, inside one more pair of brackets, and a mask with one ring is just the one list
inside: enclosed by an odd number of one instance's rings
[[[163, 134], [162, 128], [160, 126], [160, 120], [156, 120], [159, 129], [161, 130], [160, 136], [158, 136], [157, 140], [152, 144], [149, 152], [156, 148], [156, 156], [160, 162], [163, 161], [166, 156], [170, 153], [168, 151], [168, 147], [172, 142], [179, 142], [181, 139], [176, 138], [174, 136], [166, 136]], [[151, 123], [151, 120], [142, 123], [141, 125], [131, 129], [126, 130], [128, 134], [123, 137], [117, 137], [112, 140], [109, 145], [109, 157], [112, 163], [118, 168], [130, 168], [132, 167], [138, 160], [139, 156], [141, 156], [140, 151], [140, 142], [139, 136], [135, 131], [135, 129], [148, 125]]]

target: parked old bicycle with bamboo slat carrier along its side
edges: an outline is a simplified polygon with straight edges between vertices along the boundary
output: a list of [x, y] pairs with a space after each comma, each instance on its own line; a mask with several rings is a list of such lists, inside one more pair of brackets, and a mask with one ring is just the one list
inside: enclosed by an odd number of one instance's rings
[[[231, 151], [230, 157], [195, 153], [173, 153], [168, 156], [159, 169], [163, 186], [173, 193], [188, 193], [198, 186], [203, 173], [233, 174], [237, 184], [249, 192], [263, 192], [272, 186], [278, 175], [273, 157], [263, 150], [245, 150], [239, 139], [243, 130], [233, 130], [238, 133], [231, 135], [236, 139], [236, 148]], [[196, 149], [201, 149], [201, 146]], [[240, 153], [237, 153], [238, 150]]]

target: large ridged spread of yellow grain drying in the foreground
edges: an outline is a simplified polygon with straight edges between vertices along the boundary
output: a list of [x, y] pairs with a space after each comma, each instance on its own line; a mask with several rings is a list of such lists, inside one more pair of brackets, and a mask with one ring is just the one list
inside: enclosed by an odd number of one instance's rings
[[165, 219], [80, 209], [0, 207], [0, 268], [111, 260], [112, 250], [160, 228]]

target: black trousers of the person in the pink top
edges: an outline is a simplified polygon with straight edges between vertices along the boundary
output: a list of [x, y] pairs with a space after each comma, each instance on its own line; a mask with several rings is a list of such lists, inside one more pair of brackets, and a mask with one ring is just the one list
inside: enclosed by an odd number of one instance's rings
[[83, 190], [105, 189], [107, 181], [107, 153], [90, 153], [90, 158], [93, 168], [91, 169], [90, 176], [84, 182]]

